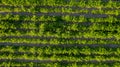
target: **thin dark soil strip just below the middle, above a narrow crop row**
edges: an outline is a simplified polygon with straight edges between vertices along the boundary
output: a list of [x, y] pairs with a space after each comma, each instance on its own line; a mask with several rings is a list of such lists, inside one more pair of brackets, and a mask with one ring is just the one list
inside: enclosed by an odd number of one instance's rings
[[77, 37], [69, 37], [69, 38], [62, 38], [62, 37], [52, 37], [52, 36], [49, 36], [49, 37], [45, 37], [45, 36], [29, 36], [29, 35], [26, 35], [26, 36], [1, 36], [0, 38], [26, 38], [26, 39], [66, 39], [66, 40], [116, 40], [115, 38], [85, 38], [85, 37], [80, 37], [80, 38], [77, 38]]

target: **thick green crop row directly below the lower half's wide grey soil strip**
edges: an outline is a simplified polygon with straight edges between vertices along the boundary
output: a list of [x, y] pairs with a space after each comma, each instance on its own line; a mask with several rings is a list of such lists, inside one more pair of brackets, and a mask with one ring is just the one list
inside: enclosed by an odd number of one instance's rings
[[[49, 46], [49, 47], [28, 47], [28, 46], [1, 46], [0, 53], [16, 53], [16, 54], [58, 54], [58, 55], [81, 55], [81, 56], [119, 56], [120, 48], [108, 48], [108, 47], [59, 47], [59, 46]], [[23, 53], [20, 53], [23, 52]], [[79, 56], [80, 57], [80, 56]]]

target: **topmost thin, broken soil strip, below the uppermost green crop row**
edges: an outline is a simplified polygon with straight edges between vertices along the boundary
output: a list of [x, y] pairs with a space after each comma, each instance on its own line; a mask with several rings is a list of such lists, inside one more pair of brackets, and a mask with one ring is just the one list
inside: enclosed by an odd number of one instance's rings
[[[13, 5], [4, 5], [4, 4], [1, 4], [0, 5], [0, 8], [31, 8], [32, 6], [31, 5], [22, 5], [22, 6], [13, 6]], [[99, 10], [99, 9], [102, 9], [102, 10], [119, 10], [118, 8], [94, 8], [94, 7], [79, 7], [79, 6], [49, 6], [49, 5], [35, 5], [34, 6], [35, 8], [47, 8], [47, 9], [50, 9], [50, 8], [59, 8], [59, 9], [62, 9], [62, 8], [71, 8], [71, 9], [79, 9], [79, 10]]]

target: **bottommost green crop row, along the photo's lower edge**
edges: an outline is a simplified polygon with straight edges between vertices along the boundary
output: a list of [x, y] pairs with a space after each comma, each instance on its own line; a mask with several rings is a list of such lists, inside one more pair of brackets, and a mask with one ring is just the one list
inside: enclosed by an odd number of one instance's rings
[[61, 62], [48, 62], [48, 63], [44, 63], [44, 62], [20, 62], [21, 60], [15, 61], [15, 60], [7, 60], [7, 61], [3, 61], [0, 62], [0, 66], [6, 66], [6, 67], [10, 67], [10, 66], [22, 66], [22, 67], [61, 67], [64, 65], [64, 67], [118, 67], [119, 66], [119, 62], [101, 62], [101, 63], [84, 63], [84, 62], [66, 62], [66, 61], [61, 61]]

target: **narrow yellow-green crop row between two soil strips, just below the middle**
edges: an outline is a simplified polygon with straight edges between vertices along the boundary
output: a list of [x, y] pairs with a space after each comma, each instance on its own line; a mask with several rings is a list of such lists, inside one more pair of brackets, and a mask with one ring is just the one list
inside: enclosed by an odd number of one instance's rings
[[73, 39], [26, 39], [26, 38], [0, 38], [0, 42], [33, 43], [33, 44], [120, 44], [119, 40], [73, 40]]

